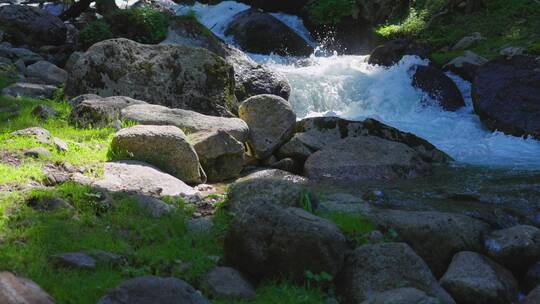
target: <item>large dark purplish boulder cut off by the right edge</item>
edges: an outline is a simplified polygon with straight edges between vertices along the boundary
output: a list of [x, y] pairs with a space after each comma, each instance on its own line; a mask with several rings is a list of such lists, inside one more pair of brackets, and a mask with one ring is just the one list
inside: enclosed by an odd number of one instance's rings
[[472, 89], [475, 112], [490, 130], [540, 139], [540, 62], [514, 56], [482, 65]]

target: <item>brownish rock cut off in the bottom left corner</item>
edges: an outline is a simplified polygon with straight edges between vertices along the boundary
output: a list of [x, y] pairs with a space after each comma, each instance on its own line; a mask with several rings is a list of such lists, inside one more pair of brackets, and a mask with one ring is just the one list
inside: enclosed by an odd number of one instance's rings
[[54, 304], [54, 299], [35, 282], [3, 271], [0, 272], [0, 303]]

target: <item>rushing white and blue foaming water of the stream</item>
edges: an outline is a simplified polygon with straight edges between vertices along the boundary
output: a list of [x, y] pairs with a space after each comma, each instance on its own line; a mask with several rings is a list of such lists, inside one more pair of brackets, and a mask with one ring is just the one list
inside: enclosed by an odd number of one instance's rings
[[[178, 12], [195, 12], [199, 21], [216, 35], [225, 37], [232, 17], [249, 6], [234, 1], [218, 5], [196, 3]], [[307, 30], [294, 16], [274, 14], [308, 41]], [[540, 141], [485, 129], [474, 114], [471, 85], [449, 75], [463, 93], [466, 107], [444, 111], [412, 85], [414, 65], [426, 65], [406, 56], [399, 64], [383, 68], [367, 64], [366, 56], [294, 58], [250, 54], [284, 73], [292, 87], [290, 102], [298, 117], [339, 116], [351, 120], [375, 118], [400, 130], [425, 138], [457, 162], [518, 169], [540, 169]], [[426, 100], [428, 100], [426, 102]]]

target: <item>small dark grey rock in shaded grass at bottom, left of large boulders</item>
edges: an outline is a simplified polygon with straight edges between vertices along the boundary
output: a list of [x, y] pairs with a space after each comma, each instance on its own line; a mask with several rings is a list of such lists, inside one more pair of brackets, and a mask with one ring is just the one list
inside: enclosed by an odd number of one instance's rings
[[251, 300], [255, 288], [239, 271], [230, 267], [216, 267], [204, 279], [203, 285], [212, 298], [227, 300]]

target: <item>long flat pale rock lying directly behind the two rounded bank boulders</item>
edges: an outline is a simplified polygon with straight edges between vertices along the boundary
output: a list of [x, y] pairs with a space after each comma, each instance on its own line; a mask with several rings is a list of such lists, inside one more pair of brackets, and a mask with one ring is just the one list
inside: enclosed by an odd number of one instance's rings
[[239, 118], [209, 116], [194, 111], [151, 104], [124, 108], [122, 119], [143, 125], [177, 126], [186, 134], [223, 131], [239, 142], [245, 142], [249, 132], [247, 124]]

